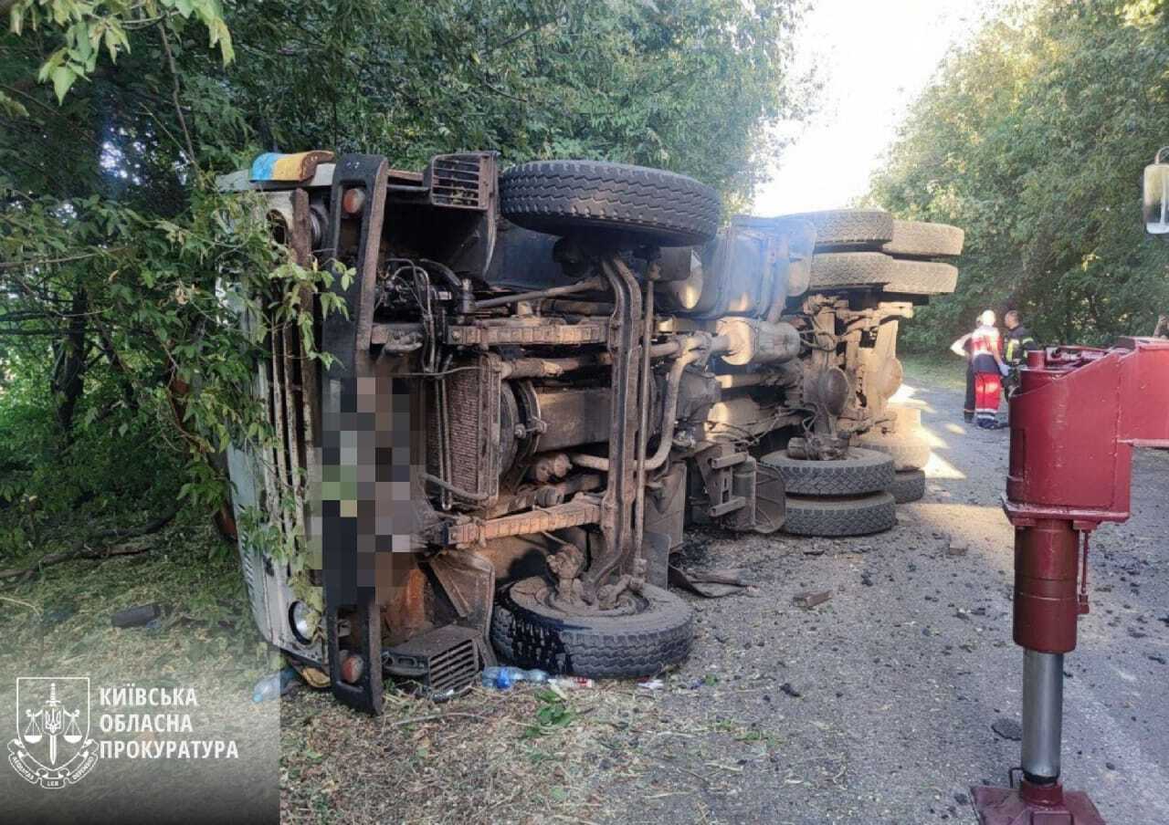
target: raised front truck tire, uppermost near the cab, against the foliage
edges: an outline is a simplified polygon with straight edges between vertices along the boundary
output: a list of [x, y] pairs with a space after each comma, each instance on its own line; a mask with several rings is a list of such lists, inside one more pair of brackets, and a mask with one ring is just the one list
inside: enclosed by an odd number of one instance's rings
[[551, 235], [691, 247], [714, 237], [719, 195], [693, 178], [625, 164], [539, 160], [499, 176], [504, 216]]

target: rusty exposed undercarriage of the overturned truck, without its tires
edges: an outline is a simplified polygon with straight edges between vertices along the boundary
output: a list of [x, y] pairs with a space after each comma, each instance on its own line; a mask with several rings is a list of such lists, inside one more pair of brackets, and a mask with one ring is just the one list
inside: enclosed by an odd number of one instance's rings
[[[348, 317], [323, 324], [321, 349], [333, 356], [323, 381], [303, 369], [296, 331], [272, 342], [270, 412], [285, 441], [268, 480], [320, 478], [307, 446], [338, 435], [321, 432], [323, 422], [354, 397], [357, 381], [389, 379], [394, 394], [408, 386], [423, 443], [411, 462], [424, 470], [411, 498], [429, 515], [411, 548], [437, 553], [395, 566], [374, 605], [333, 563], [343, 552], [336, 539], [352, 525], [325, 518], [334, 539], [321, 564], [331, 660], [348, 649], [344, 660], [372, 661], [367, 645], [380, 644], [382, 629], [394, 642], [448, 621], [484, 631], [497, 571], [489, 542], [547, 538], [544, 564], [556, 542], [565, 546], [553, 532], [588, 540], [579, 545], [589, 550], [582, 564], [559, 562], [565, 592], [611, 609], [641, 587], [649, 556], [667, 560], [680, 542], [691, 492], [708, 499], [705, 520], [775, 529], [782, 483], [760, 478], [756, 448], [803, 436], [816, 457], [835, 455], [878, 420], [900, 382], [890, 320], [898, 307], [859, 293], [797, 297], [807, 291], [811, 224], [738, 217], [703, 249], [618, 252], [498, 220], [497, 178], [490, 152], [437, 155], [422, 174], [350, 154], [336, 165], [327, 201], [320, 188], [311, 203], [303, 189], [281, 194], [296, 258], [311, 262], [317, 221], [327, 224], [323, 263], [336, 258], [357, 276], [332, 287]], [[292, 492], [298, 506], [281, 527], [306, 531], [304, 490]], [[663, 564], [655, 567], [660, 577]], [[372, 619], [379, 610], [385, 625]], [[339, 639], [338, 629], [354, 623]], [[347, 701], [372, 708], [380, 668], [348, 675], [355, 685], [334, 672], [334, 688], [345, 682], [361, 692]]]

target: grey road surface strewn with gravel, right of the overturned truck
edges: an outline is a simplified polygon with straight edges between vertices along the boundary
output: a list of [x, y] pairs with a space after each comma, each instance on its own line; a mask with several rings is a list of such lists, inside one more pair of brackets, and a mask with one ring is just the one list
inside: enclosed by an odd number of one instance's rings
[[[1018, 764], [1018, 742], [992, 729], [1010, 733], [1022, 687], [998, 506], [1009, 435], [967, 427], [956, 391], [902, 395], [934, 456], [926, 498], [893, 531], [689, 543], [686, 563], [747, 568], [759, 588], [690, 599], [696, 647], [659, 700], [676, 733], [657, 737], [648, 775], [602, 771], [603, 819], [974, 823], [969, 785]], [[1169, 453], [1139, 453], [1135, 515], [1093, 538], [1092, 612], [1066, 663], [1065, 785], [1115, 823], [1169, 823], [1167, 479]], [[832, 598], [797, 608], [808, 590]], [[728, 735], [687, 735], [720, 726]]]

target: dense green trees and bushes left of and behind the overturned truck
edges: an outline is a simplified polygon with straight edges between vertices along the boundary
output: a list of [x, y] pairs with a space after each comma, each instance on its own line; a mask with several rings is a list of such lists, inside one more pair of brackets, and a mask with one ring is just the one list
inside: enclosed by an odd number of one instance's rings
[[801, 5], [0, 0], [0, 522], [15, 549], [54, 514], [217, 507], [223, 448], [272, 437], [250, 397], [268, 334], [291, 325], [313, 354], [304, 297], [336, 311], [334, 276], [291, 263], [214, 172], [260, 148], [403, 168], [496, 148], [664, 166], [742, 201], [779, 148], [766, 126], [801, 112]]

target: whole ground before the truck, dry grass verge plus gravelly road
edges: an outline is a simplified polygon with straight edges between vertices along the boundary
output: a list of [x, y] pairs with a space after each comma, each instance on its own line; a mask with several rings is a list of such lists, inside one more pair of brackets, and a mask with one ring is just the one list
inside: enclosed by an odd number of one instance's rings
[[[684, 563], [740, 567], [752, 592], [686, 596], [690, 659], [656, 689], [389, 695], [368, 719], [325, 694], [282, 702], [286, 821], [974, 823], [1019, 744], [1008, 432], [919, 386], [926, 498], [853, 540], [696, 534]], [[1134, 518], [1093, 539], [1092, 613], [1067, 657], [1064, 778], [1108, 821], [1169, 821], [1169, 452], [1141, 452]], [[964, 550], [964, 552], [963, 552]], [[793, 596], [831, 590], [803, 610]]]

